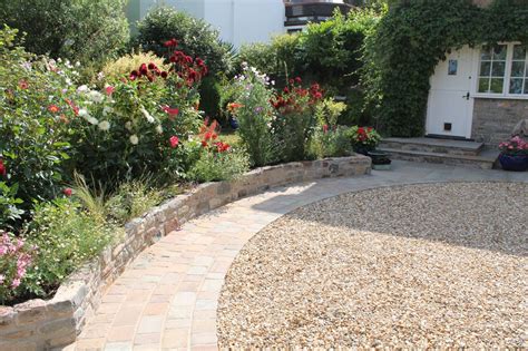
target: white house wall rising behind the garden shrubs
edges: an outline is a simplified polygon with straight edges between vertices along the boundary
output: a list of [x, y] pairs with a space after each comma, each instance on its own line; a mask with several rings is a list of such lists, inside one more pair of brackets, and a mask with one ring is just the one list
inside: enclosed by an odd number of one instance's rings
[[206, 20], [235, 47], [267, 42], [274, 35], [285, 32], [283, 0], [140, 0], [140, 18], [156, 4], [173, 6]]

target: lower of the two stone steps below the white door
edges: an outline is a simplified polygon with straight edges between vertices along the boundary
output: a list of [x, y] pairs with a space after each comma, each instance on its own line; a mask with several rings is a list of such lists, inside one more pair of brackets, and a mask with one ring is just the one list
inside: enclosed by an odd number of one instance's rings
[[450, 166], [466, 166], [471, 168], [491, 169], [499, 155], [498, 152], [486, 152], [486, 155], [452, 155], [446, 153], [428, 153], [417, 150], [402, 150], [397, 148], [379, 147], [378, 150], [390, 154], [391, 159], [403, 159]]

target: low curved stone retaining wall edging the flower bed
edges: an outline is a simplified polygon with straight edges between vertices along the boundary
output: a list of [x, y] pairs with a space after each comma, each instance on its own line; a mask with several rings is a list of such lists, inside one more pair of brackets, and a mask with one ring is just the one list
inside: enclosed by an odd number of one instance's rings
[[51, 350], [72, 343], [105, 290], [144, 248], [183, 223], [268, 188], [319, 178], [369, 174], [371, 159], [354, 155], [251, 170], [232, 182], [205, 183], [125, 225], [125, 235], [72, 274], [51, 300], [0, 306], [0, 350]]

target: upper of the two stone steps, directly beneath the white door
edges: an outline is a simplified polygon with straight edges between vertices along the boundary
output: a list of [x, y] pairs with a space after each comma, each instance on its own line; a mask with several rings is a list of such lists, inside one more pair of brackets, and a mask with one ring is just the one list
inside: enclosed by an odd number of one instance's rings
[[381, 148], [402, 149], [409, 152], [423, 152], [434, 154], [478, 156], [483, 143], [436, 139], [436, 138], [385, 138], [380, 144]]

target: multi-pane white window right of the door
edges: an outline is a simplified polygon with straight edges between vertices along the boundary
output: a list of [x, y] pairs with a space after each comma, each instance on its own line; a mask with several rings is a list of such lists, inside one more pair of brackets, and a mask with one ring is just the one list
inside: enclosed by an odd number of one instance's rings
[[485, 46], [480, 51], [478, 94], [528, 97], [528, 52], [521, 45]]

